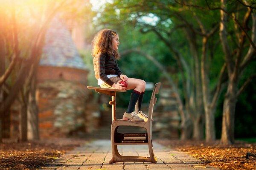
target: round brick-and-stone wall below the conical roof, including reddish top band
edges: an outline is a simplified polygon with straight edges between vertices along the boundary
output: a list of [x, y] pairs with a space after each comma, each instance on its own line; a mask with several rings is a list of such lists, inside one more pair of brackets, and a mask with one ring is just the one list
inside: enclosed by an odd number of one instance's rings
[[87, 131], [87, 74], [76, 68], [38, 68], [40, 136], [64, 137]]

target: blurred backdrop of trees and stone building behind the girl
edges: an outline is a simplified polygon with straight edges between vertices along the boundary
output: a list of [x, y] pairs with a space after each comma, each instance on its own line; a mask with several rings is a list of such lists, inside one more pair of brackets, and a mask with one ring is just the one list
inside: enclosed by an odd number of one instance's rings
[[[119, 34], [128, 77], [162, 82], [154, 135], [256, 142], [255, 0], [1, 0], [0, 139], [86, 137], [110, 130], [91, 41]], [[117, 95], [117, 118], [131, 91]], [[107, 131], [108, 132], [108, 131]]]

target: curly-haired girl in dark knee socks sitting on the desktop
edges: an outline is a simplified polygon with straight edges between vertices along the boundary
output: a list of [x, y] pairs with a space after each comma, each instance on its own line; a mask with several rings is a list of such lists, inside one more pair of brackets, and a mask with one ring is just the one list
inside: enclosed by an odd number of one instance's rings
[[140, 111], [146, 83], [141, 79], [128, 78], [118, 67], [116, 62], [120, 58], [118, 34], [111, 29], [103, 29], [94, 37], [92, 46], [93, 66], [98, 85], [102, 88], [125, 90], [125, 85], [120, 84], [120, 82], [127, 82], [126, 90], [133, 89], [134, 91], [131, 93], [130, 102], [123, 119], [146, 122], [148, 116]]

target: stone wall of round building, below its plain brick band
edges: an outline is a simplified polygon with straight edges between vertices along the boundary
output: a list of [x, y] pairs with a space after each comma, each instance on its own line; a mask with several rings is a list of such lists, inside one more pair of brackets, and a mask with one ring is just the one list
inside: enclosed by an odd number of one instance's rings
[[78, 82], [48, 80], [38, 84], [41, 137], [85, 132], [87, 89]]

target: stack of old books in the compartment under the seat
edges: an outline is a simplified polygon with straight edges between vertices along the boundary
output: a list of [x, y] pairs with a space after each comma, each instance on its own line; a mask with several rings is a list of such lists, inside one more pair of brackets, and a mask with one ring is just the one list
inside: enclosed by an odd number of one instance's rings
[[122, 143], [144, 143], [147, 133], [125, 133]]

